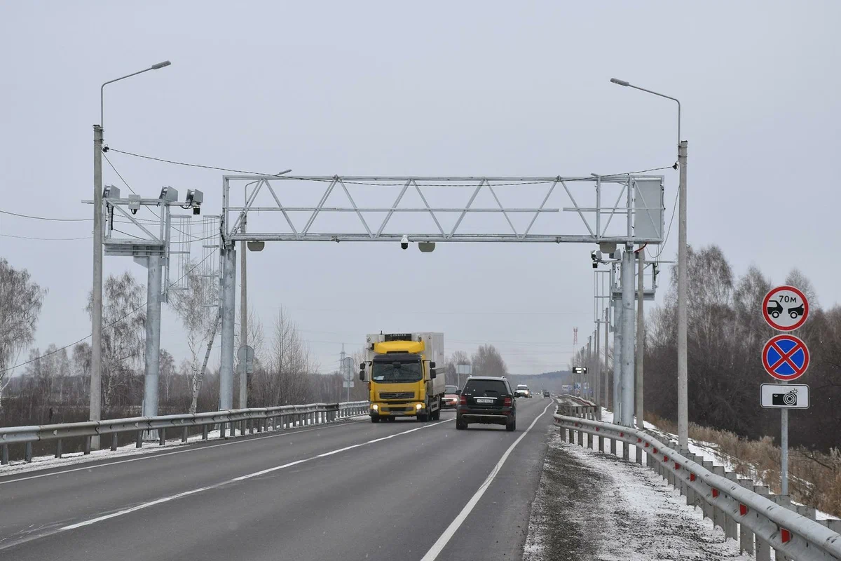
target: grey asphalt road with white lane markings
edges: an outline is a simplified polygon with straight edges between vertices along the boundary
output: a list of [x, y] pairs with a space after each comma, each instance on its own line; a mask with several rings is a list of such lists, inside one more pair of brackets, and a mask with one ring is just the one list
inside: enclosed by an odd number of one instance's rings
[[0, 477], [0, 558], [519, 559], [551, 403], [514, 432], [444, 412]]

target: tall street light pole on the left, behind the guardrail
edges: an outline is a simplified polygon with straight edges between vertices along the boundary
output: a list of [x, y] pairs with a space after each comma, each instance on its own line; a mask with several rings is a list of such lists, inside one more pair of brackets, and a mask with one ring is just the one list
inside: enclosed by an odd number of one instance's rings
[[[91, 325], [91, 397], [90, 420], [102, 417], [102, 334], [103, 334], [103, 141], [105, 131], [105, 87], [125, 78], [169, 66], [170, 61], [158, 62], [144, 70], [109, 80], [99, 87], [99, 124], [93, 125], [93, 298]], [[91, 437], [91, 449], [99, 449], [99, 437]]]

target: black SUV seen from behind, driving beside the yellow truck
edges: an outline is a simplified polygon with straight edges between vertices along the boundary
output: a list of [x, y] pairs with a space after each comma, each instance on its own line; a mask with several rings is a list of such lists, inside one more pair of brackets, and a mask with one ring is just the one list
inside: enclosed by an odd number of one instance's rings
[[475, 376], [468, 378], [456, 409], [456, 428], [463, 431], [468, 423], [505, 425], [506, 431], [517, 427], [517, 404], [505, 378]]

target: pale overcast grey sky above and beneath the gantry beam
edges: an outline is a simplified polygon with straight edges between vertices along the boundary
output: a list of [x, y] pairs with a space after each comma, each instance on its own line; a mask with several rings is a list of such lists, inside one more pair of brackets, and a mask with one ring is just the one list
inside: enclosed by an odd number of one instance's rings
[[[798, 267], [822, 305], [838, 302], [837, 2], [134, 5], [0, 8], [0, 209], [89, 216], [99, 86], [156, 61], [172, 66], [106, 90], [109, 146], [317, 175], [672, 164], [674, 103], [608, 82], [620, 77], [683, 103], [690, 244], [776, 282]], [[200, 188], [205, 213], [220, 207], [221, 172], [109, 157], [139, 193]], [[670, 211], [677, 172], [664, 174]], [[90, 224], [2, 215], [0, 234], [0, 255], [50, 289], [37, 344], [89, 333], [92, 242], [6, 236], [90, 236]], [[249, 294], [267, 329], [288, 308], [325, 371], [342, 341], [385, 330], [444, 331], [447, 352], [494, 342], [512, 373], [539, 373], [566, 367], [574, 326], [579, 341], [592, 329], [590, 249], [270, 244], [249, 255]], [[145, 283], [130, 259], [105, 259], [106, 274], [125, 270]], [[162, 345], [181, 358], [164, 317]]]

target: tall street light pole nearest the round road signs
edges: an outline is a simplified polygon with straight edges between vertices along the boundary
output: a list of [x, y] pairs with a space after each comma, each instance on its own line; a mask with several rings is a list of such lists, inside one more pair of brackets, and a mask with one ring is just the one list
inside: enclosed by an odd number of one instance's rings
[[678, 104], [678, 167], [680, 169], [678, 186], [678, 444], [683, 449], [687, 449], [689, 447], [689, 384], [686, 369], [686, 298], [689, 279], [686, 272], [686, 152], [689, 145], [685, 140], [680, 140], [680, 100], [644, 87], [634, 86], [625, 80], [611, 78], [611, 82], [651, 93], [659, 98], [671, 99]]

